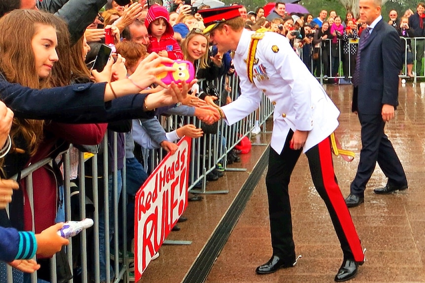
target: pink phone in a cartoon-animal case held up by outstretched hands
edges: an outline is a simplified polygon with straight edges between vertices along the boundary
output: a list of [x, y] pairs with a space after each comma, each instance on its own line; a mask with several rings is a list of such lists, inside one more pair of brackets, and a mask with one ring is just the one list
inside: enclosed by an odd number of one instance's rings
[[195, 68], [189, 61], [177, 59], [174, 63], [166, 63], [164, 65], [177, 69], [174, 72], [163, 72], [158, 75], [158, 78], [167, 85], [171, 84], [171, 82], [176, 84], [182, 82], [190, 83], [195, 77]]

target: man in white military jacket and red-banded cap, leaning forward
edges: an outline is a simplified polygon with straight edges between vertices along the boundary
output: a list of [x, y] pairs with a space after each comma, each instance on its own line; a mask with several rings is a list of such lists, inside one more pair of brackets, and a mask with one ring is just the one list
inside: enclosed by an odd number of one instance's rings
[[349, 280], [364, 262], [364, 253], [333, 170], [329, 136], [338, 126], [340, 112], [288, 40], [275, 32], [245, 30], [238, 8], [220, 7], [199, 13], [207, 27], [204, 33], [210, 33], [210, 41], [218, 51], [235, 50], [233, 63], [241, 95], [217, 108], [220, 117], [228, 125], [238, 122], [259, 107], [262, 93], [275, 105], [266, 177], [273, 255], [255, 271], [268, 274], [296, 263], [288, 185], [295, 163], [305, 153], [344, 255], [335, 281]]

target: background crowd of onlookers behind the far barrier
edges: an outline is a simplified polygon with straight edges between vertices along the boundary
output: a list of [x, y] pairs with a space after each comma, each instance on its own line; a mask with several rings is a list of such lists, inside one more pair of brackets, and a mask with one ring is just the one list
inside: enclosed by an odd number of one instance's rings
[[[417, 12], [407, 9], [402, 17], [396, 10], [389, 12], [388, 24], [397, 30], [404, 46], [407, 78], [414, 76], [413, 63], [416, 58], [416, 75], [422, 76], [424, 58], [424, 23], [422, 14], [424, 4], [419, 2]], [[243, 15], [241, 13], [241, 15]], [[264, 8], [249, 12], [246, 27], [249, 30], [266, 28], [278, 32], [290, 40], [294, 50], [302, 58], [308, 69], [316, 76], [323, 77], [325, 83], [337, 83], [337, 78], [344, 78], [351, 83], [355, 69], [355, 54], [358, 39], [367, 25], [353, 12], [337, 15], [334, 10], [321, 10], [319, 16], [312, 14], [286, 13], [285, 3], [276, 2], [275, 8], [264, 17]], [[417, 39], [413, 39], [418, 37]], [[412, 48], [412, 41], [414, 46]], [[416, 53], [416, 54], [415, 54]], [[416, 57], [414, 57], [414, 54]], [[342, 68], [340, 65], [342, 64]], [[334, 80], [329, 80], [332, 77]]]

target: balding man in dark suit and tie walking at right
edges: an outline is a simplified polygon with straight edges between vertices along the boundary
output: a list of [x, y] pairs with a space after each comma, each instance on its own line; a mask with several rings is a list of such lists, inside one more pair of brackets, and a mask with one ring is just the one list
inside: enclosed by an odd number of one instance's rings
[[401, 46], [397, 31], [382, 20], [382, 0], [360, 0], [360, 21], [368, 28], [361, 34], [357, 65], [354, 72], [353, 111], [361, 125], [360, 162], [348, 207], [364, 202], [364, 190], [378, 162], [388, 178], [377, 194], [407, 189], [406, 175], [390, 140], [384, 132], [385, 123], [394, 118], [398, 105], [398, 73], [401, 69]]

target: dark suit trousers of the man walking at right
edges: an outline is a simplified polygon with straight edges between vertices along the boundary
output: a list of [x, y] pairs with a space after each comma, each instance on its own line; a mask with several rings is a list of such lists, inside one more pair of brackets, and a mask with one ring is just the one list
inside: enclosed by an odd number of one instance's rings
[[392, 186], [407, 185], [406, 174], [388, 136], [384, 132], [382, 115], [365, 115], [358, 112], [361, 125], [361, 151], [357, 173], [351, 183], [351, 193], [364, 196], [366, 184], [378, 162], [388, 183]]

